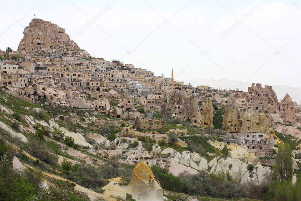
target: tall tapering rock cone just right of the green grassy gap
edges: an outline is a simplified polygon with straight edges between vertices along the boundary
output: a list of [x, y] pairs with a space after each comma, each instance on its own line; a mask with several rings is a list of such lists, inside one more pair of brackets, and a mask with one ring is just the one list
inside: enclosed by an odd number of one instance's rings
[[223, 130], [228, 132], [240, 132], [240, 115], [237, 113], [235, 97], [231, 94], [227, 99], [227, 105], [225, 109], [224, 119], [223, 119]]

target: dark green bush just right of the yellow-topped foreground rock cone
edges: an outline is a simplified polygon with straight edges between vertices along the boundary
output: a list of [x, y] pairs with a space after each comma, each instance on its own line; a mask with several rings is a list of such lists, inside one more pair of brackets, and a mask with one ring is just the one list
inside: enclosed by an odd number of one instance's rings
[[166, 190], [171, 190], [174, 192], [182, 192], [182, 182], [179, 177], [173, 176], [172, 174], [162, 171], [163, 169], [157, 165], [151, 166], [151, 171], [157, 178], [161, 187]]

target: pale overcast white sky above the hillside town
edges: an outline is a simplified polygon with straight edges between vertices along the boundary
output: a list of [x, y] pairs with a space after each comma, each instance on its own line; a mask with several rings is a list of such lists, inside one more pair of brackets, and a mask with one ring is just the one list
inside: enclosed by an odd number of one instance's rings
[[300, 0], [15, 0], [0, 14], [3, 50], [40, 18], [91, 56], [155, 75], [301, 87]]

